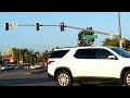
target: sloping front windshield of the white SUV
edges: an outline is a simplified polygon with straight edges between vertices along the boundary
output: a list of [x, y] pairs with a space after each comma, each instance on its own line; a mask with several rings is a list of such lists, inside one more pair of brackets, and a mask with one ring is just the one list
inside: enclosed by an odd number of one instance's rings
[[123, 57], [123, 58], [130, 58], [130, 53], [121, 48], [110, 48], [113, 51], [115, 51], [116, 53], [118, 53], [119, 56]]

